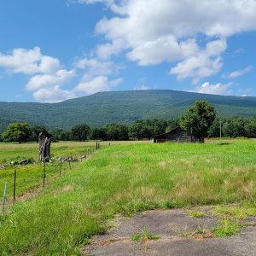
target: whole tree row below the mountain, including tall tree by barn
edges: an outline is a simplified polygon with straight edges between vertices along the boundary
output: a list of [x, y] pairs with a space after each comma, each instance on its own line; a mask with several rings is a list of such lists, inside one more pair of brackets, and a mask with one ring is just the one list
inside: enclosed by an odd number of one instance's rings
[[137, 120], [132, 125], [109, 124], [90, 127], [87, 124], [74, 125], [70, 131], [56, 129], [48, 132], [42, 125], [13, 123], [0, 136], [3, 142], [35, 142], [40, 132], [53, 141], [125, 141], [151, 139], [155, 135], [172, 131], [180, 126], [192, 137], [204, 143], [205, 137], [256, 137], [256, 117], [216, 118], [215, 109], [205, 100], [196, 101], [179, 119]]

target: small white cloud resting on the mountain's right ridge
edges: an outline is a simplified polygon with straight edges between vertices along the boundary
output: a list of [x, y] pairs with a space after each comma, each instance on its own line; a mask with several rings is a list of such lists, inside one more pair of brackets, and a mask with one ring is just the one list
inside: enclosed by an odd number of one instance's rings
[[207, 94], [227, 95], [227, 94], [230, 94], [231, 86], [232, 86], [232, 83], [210, 84], [209, 82], [207, 82], [207, 83], [201, 84], [200, 86], [197, 86], [195, 90], [192, 90], [192, 91], [199, 92], [199, 93], [207, 93]]

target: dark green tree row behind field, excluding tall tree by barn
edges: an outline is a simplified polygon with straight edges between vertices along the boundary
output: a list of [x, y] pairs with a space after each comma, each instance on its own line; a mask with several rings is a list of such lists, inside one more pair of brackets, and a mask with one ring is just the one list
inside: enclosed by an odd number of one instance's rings
[[[178, 119], [138, 120], [132, 125], [109, 124], [102, 127], [74, 125], [70, 130], [55, 129], [47, 131], [42, 125], [12, 124], [0, 135], [5, 142], [35, 142], [39, 132], [49, 134], [53, 141], [85, 140], [143, 140], [154, 135], [172, 131], [178, 126]], [[217, 118], [207, 132], [207, 137], [256, 137], [256, 117]]]

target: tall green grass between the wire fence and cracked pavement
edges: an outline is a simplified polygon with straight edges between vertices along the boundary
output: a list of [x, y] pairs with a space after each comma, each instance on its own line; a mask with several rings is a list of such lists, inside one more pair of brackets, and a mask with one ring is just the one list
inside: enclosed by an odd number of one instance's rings
[[255, 207], [256, 144], [126, 144], [97, 151], [1, 220], [0, 254], [79, 255], [114, 214], [246, 202]]

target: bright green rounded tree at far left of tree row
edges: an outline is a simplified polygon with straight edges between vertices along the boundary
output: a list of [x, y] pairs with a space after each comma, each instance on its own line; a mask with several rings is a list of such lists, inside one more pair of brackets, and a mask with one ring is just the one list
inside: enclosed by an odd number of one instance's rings
[[9, 143], [25, 143], [31, 135], [31, 127], [26, 123], [12, 123], [3, 132], [3, 139]]

